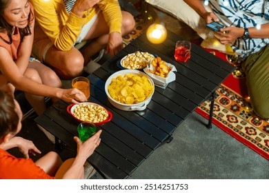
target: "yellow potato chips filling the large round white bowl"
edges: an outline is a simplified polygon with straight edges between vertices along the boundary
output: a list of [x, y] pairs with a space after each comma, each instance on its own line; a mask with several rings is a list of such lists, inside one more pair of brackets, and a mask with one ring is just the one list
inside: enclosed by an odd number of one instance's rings
[[153, 89], [154, 86], [147, 77], [134, 74], [125, 74], [124, 77], [119, 75], [108, 85], [112, 99], [126, 104], [140, 103], [148, 99]]

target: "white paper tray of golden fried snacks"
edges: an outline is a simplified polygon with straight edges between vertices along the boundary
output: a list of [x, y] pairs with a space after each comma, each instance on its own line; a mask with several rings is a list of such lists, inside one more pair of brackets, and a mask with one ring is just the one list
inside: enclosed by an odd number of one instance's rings
[[152, 59], [149, 67], [144, 68], [143, 71], [152, 78], [155, 85], [166, 88], [168, 83], [175, 81], [177, 69], [174, 65], [163, 61], [160, 57]]

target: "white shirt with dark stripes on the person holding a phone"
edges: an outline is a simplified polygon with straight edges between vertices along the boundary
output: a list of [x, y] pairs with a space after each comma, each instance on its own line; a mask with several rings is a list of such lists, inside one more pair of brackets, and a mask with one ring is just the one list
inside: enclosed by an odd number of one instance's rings
[[[268, 0], [210, 0], [213, 12], [224, 26], [251, 28], [269, 22]], [[269, 43], [269, 39], [239, 38], [232, 49], [246, 59]]]

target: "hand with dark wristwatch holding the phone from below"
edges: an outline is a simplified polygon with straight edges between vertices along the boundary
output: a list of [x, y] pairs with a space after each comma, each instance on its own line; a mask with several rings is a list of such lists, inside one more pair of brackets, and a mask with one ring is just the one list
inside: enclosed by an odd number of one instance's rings
[[243, 35], [243, 28], [227, 27], [221, 28], [219, 32], [215, 33], [215, 37], [222, 44], [234, 43], [235, 40]]

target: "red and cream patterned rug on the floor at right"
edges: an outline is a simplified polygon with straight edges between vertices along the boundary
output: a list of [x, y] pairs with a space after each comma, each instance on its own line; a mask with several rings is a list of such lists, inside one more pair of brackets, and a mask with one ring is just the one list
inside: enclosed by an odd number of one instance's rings
[[[230, 63], [226, 54], [206, 50]], [[252, 111], [245, 81], [240, 70], [235, 70], [219, 86], [212, 123], [269, 160], [269, 123]], [[209, 109], [210, 101], [206, 101], [196, 112], [208, 119]]]

